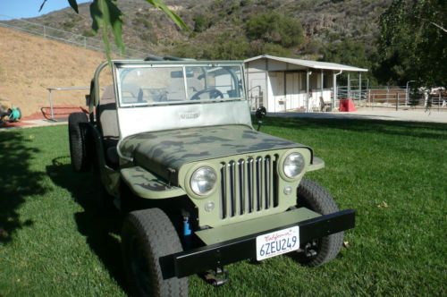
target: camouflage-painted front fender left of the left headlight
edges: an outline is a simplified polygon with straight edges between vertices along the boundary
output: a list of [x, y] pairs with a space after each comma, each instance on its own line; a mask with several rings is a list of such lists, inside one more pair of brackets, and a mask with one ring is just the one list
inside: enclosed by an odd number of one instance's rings
[[181, 188], [167, 184], [139, 166], [121, 169], [121, 174], [131, 191], [141, 198], [165, 199], [186, 195]]

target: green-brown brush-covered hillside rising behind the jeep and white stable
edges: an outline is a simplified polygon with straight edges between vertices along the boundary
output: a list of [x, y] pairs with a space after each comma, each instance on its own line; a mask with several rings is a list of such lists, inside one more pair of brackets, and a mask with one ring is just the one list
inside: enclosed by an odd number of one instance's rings
[[[318, 59], [329, 44], [347, 38], [360, 43], [367, 55], [373, 55], [378, 18], [391, 0], [165, 0], [165, 3], [186, 21], [190, 32], [177, 30], [163, 13], [143, 0], [120, 0], [118, 5], [125, 14], [123, 37], [128, 47], [158, 55], [197, 58], [241, 59], [269, 52]], [[247, 22], [263, 13], [278, 13], [299, 21], [304, 39], [284, 49], [278, 47], [283, 45], [275, 36], [269, 37], [270, 43], [249, 37]], [[80, 4], [80, 14], [67, 8], [31, 21], [92, 36], [89, 4]], [[230, 44], [223, 47], [227, 41]]]

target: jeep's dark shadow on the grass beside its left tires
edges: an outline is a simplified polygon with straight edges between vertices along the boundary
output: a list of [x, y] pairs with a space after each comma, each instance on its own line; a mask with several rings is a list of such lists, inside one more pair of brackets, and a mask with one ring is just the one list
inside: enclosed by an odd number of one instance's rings
[[97, 196], [102, 195], [102, 191], [93, 174], [74, 173], [70, 157], [53, 159], [52, 165], [46, 166], [46, 172], [55, 184], [70, 191], [73, 199], [84, 208], [74, 214], [79, 232], [86, 236], [90, 249], [97, 254], [110, 276], [129, 293], [117, 239], [121, 233], [122, 217], [117, 210], [100, 208]]

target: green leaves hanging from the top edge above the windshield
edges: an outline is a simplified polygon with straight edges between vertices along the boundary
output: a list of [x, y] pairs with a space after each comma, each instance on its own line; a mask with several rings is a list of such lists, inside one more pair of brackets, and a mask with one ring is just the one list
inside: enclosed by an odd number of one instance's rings
[[[40, 10], [44, 7], [47, 0], [43, 0], [40, 5]], [[79, 13], [77, 0], [67, 0], [72, 9]], [[148, 4], [163, 11], [167, 16], [173, 20], [173, 22], [183, 30], [187, 30], [188, 26], [181, 20], [181, 18], [171, 11], [163, 0], [142, 0], [148, 2]], [[105, 54], [110, 60], [110, 42], [109, 33], [114, 36], [114, 42], [120, 49], [122, 54], [125, 51], [124, 43], [122, 42], [122, 11], [116, 5], [116, 0], [93, 0], [90, 4], [90, 16], [92, 19], [91, 28], [94, 33], [98, 30], [102, 30], [102, 38], [105, 44]]]

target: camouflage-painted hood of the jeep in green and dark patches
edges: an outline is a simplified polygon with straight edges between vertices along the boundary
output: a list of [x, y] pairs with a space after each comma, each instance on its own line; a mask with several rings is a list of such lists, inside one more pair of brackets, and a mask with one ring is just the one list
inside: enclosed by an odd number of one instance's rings
[[[270, 149], [305, 147], [242, 125], [146, 132], [120, 142], [120, 151], [135, 165], [178, 184], [181, 165]], [[168, 170], [169, 169], [169, 170]]]

